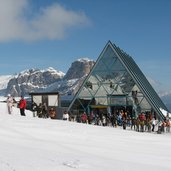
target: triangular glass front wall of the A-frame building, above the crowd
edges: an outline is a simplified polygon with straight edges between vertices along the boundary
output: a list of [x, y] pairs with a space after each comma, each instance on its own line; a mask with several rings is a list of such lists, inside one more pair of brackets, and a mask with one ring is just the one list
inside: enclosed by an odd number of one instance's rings
[[[121, 50], [120, 53], [125, 54]], [[126, 58], [130, 63], [133, 60], [128, 55]], [[134, 66], [132, 68], [137, 70]], [[69, 111], [76, 115], [82, 112], [90, 114], [94, 110], [114, 112], [118, 108], [129, 109], [134, 115], [154, 111], [149, 99], [142, 92], [143, 88], [137, 82], [131, 69], [129, 70], [109, 43], [80, 87]]]

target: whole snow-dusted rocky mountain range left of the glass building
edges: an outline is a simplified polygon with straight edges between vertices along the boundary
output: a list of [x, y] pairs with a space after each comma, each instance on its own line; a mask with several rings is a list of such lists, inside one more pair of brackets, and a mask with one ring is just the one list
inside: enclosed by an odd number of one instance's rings
[[0, 95], [20, 96], [35, 91], [58, 91], [61, 94], [75, 94], [94, 63], [88, 58], [78, 59], [71, 64], [66, 75], [49, 67], [45, 70], [28, 69], [14, 76], [1, 76]]

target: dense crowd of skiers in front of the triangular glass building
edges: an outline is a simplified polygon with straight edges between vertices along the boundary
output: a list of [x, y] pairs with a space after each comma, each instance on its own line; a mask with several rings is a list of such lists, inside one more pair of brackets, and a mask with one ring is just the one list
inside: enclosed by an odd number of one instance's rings
[[137, 132], [170, 132], [171, 121], [169, 115], [165, 117], [164, 121], [159, 121], [156, 115], [150, 112], [142, 112], [138, 116], [132, 116], [130, 112], [120, 110], [116, 114], [94, 114], [87, 115], [83, 112], [81, 115], [71, 117], [70, 120], [93, 124], [99, 126], [123, 127]]

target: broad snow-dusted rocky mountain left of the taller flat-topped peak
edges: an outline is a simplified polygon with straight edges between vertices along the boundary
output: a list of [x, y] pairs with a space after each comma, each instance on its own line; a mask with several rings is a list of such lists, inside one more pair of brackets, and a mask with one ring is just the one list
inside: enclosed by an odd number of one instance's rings
[[33, 91], [44, 90], [49, 85], [61, 80], [64, 75], [63, 72], [51, 67], [46, 70], [25, 70], [9, 80], [5, 95], [28, 95]]

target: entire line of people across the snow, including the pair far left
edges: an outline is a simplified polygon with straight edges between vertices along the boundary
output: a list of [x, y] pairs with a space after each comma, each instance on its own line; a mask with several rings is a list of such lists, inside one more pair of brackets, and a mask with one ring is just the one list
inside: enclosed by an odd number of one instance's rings
[[[20, 100], [17, 102], [15, 98], [9, 94], [6, 102], [8, 114], [12, 114], [12, 108], [16, 105], [20, 109], [21, 116], [25, 116], [27, 102], [23, 96], [21, 96]], [[48, 110], [46, 103], [40, 103], [37, 105], [33, 102], [32, 109], [33, 117], [50, 117], [51, 119], [56, 119], [56, 110], [54, 107], [51, 107]], [[131, 130], [135, 130], [137, 132], [170, 132], [171, 127], [169, 115], [165, 117], [164, 121], [159, 121], [156, 115], [152, 115], [150, 112], [142, 112], [135, 117], [129, 111], [124, 110], [118, 110], [115, 114], [96, 114], [91, 112], [90, 115], [87, 115], [86, 112], [83, 112], [81, 115], [74, 116], [71, 116], [67, 111], [64, 111], [62, 119], [99, 126], [120, 126], [123, 127], [123, 129], [127, 129], [127, 127], [129, 127]]]

